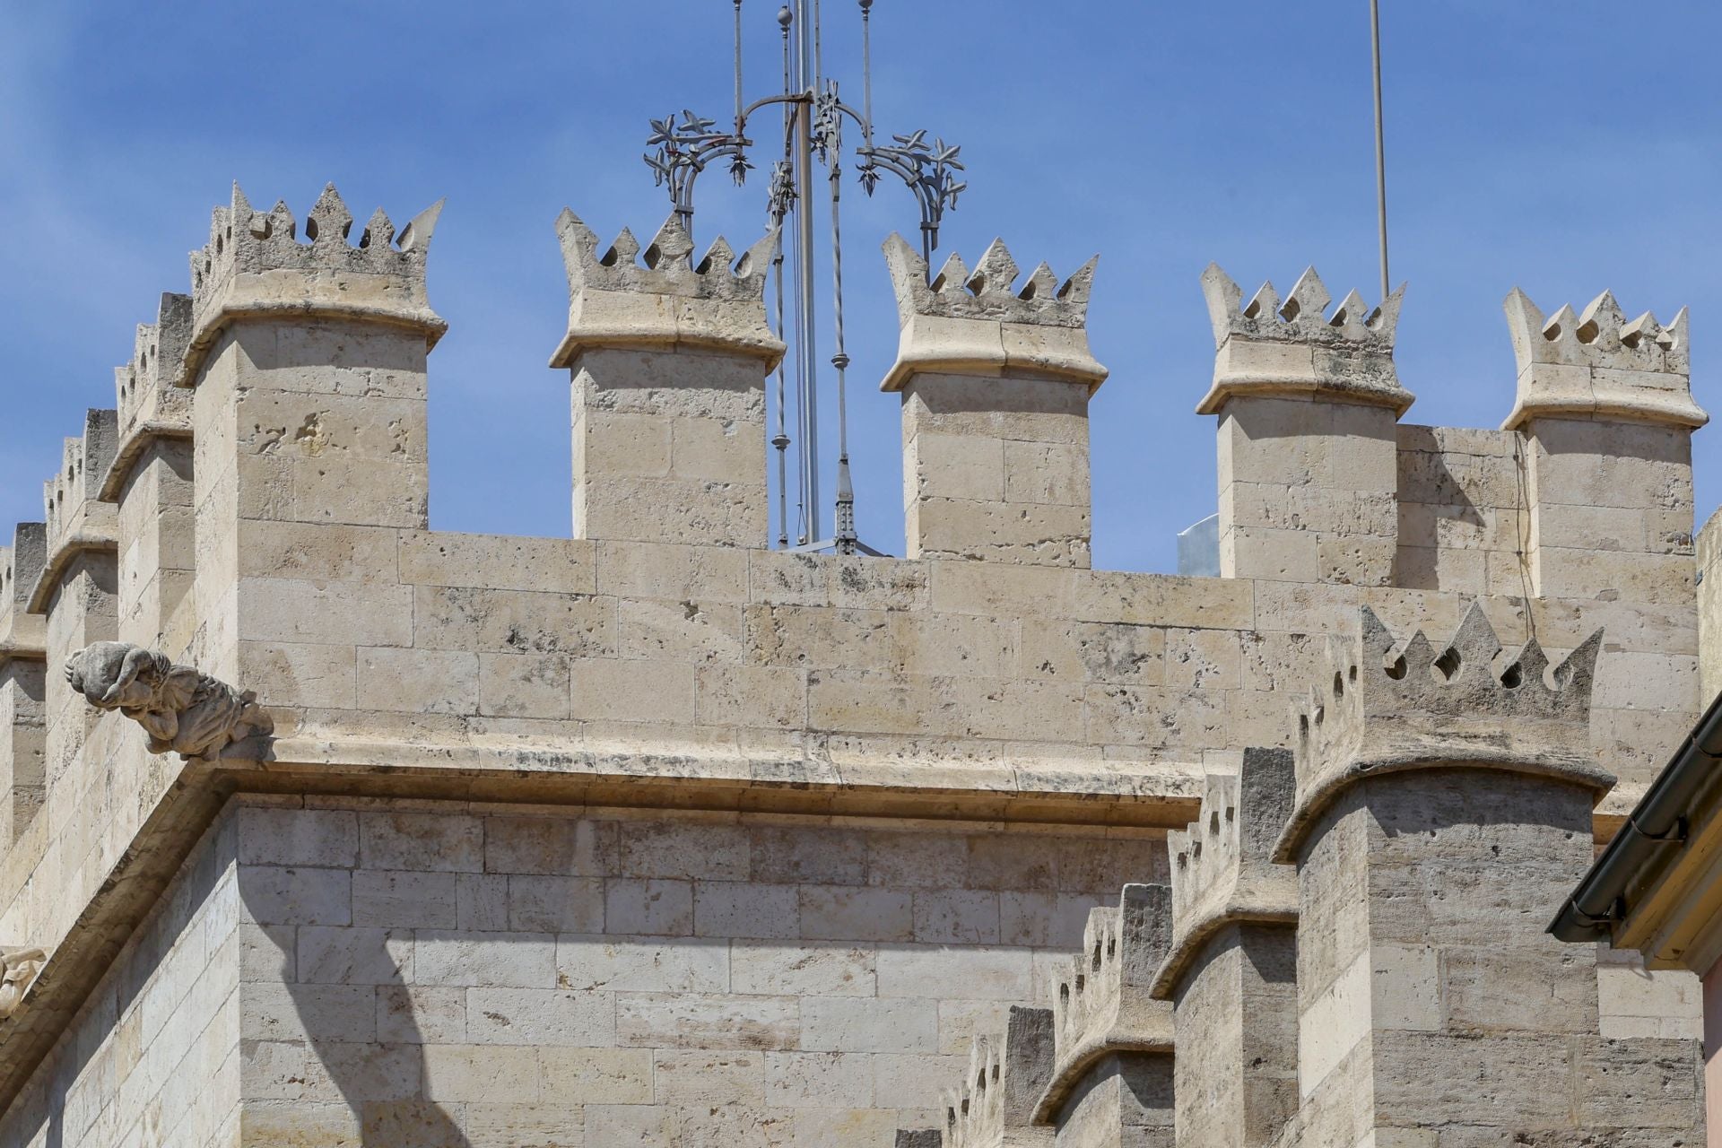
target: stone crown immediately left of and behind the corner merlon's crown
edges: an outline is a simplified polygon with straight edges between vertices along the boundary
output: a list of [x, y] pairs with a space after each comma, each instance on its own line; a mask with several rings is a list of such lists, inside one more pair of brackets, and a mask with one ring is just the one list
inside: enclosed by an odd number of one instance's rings
[[138, 324], [131, 361], [114, 368], [119, 446], [98, 497], [119, 501], [126, 477], [152, 439], [191, 437], [191, 392], [179, 384], [191, 343], [191, 296], [164, 293], [153, 324]]

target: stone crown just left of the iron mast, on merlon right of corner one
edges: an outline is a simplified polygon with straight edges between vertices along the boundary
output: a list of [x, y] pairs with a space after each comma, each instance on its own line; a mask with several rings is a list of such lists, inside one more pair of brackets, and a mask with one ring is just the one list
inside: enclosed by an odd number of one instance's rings
[[753, 355], [766, 370], [784, 358], [784, 341], [765, 317], [765, 281], [777, 258], [778, 232], [735, 258], [718, 236], [694, 262], [694, 243], [675, 213], [644, 253], [623, 229], [601, 255], [598, 236], [563, 208], [556, 219], [561, 262], [568, 270], [568, 334], [551, 367], [572, 367], [592, 346], [706, 346]]

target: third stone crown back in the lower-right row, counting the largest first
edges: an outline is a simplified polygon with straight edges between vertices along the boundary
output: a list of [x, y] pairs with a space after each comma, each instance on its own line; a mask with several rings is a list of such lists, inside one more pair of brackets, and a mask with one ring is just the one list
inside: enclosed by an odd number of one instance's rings
[[1126, 885], [1118, 907], [1088, 910], [1083, 952], [1059, 978], [1052, 1000], [1057, 1045], [1037, 1122], [1057, 1114], [1088, 1065], [1109, 1052], [1171, 1052], [1171, 1005], [1150, 997], [1171, 948], [1171, 890]]

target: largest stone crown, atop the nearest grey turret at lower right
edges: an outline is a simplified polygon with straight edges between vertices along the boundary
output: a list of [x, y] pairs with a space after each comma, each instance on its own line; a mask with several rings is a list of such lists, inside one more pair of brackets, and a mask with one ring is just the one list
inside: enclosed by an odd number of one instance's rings
[[1505, 769], [1595, 790], [1614, 787], [1589, 745], [1591, 685], [1601, 630], [1550, 670], [1531, 637], [1502, 668], [1495, 626], [1472, 602], [1440, 651], [1419, 630], [1397, 654], [1362, 608], [1360, 639], [1336, 642], [1297, 707], [1297, 807], [1274, 849], [1297, 850], [1321, 812], [1366, 776], [1402, 769]]

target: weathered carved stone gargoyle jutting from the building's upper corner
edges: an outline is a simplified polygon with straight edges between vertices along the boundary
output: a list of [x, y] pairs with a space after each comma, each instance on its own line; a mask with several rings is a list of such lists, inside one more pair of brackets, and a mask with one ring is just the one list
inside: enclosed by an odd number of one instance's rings
[[141, 725], [152, 754], [215, 757], [231, 742], [274, 730], [257, 694], [129, 642], [86, 645], [65, 659], [65, 680], [96, 709]]

